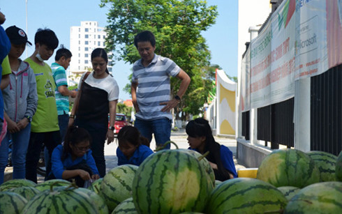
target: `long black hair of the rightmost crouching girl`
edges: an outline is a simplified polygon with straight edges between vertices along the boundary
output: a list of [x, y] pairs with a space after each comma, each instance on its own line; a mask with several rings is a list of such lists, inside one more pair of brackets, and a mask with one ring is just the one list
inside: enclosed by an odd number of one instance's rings
[[202, 118], [189, 121], [186, 125], [186, 134], [188, 134], [190, 137], [205, 137], [206, 140], [204, 153], [209, 151], [209, 155], [206, 157], [207, 160], [215, 163], [217, 165], [218, 171], [220, 171], [226, 178], [229, 178], [230, 175], [225, 167], [223, 167], [221, 160], [221, 145], [215, 141], [211, 132], [209, 121]]

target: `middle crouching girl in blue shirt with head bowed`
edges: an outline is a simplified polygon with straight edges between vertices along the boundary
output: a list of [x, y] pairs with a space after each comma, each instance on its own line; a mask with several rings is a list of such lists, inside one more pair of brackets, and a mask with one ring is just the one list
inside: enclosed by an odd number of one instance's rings
[[152, 153], [149, 140], [140, 135], [137, 128], [126, 125], [117, 135], [119, 146], [117, 148], [117, 165], [140, 164]]

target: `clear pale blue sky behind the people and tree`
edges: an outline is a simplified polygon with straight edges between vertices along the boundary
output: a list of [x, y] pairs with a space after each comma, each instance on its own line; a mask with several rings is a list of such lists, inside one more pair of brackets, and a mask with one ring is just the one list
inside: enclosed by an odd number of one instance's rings
[[[97, 21], [99, 26], [107, 25], [108, 8], [100, 8], [99, 3], [100, 0], [1, 0], [0, 11], [6, 15], [4, 29], [16, 25], [27, 32], [29, 41], [34, 43], [37, 29], [46, 27], [56, 33], [60, 45], [70, 48], [70, 26], [80, 26], [81, 21]], [[202, 33], [211, 52], [211, 64], [217, 64], [227, 75], [237, 77], [238, 1], [207, 0], [207, 5], [218, 6], [216, 24]], [[26, 59], [33, 52], [34, 45], [27, 47], [21, 59]], [[51, 65], [54, 55], [46, 62]], [[132, 65], [124, 61], [116, 61], [113, 66], [121, 100], [131, 99], [131, 95], [123, 91], [130, 82], [128, 75], [131, 72]]]

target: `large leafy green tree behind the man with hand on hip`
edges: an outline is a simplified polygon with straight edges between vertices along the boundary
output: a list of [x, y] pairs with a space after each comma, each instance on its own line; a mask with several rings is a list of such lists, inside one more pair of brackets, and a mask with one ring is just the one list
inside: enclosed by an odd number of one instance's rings
[[[156, 54], [172, 59], [191, 77], [191, 85], [175, 108], [179, 112], [197, 114], [205, 103], [205, 82], [211, 59], [201, 32], [215, 23], [216, 6], [198, 0], [101, 0], [109, 6], [106, 47], [116, 59], [134, 63], [140, 56], [133, 44], [134, 36], [149, 30], [156, 36]], [[179, 89], [179, 79], [171, 79], [171, 93]], [[199, 99], [197, 99], [199, 97]], [[185, 114], [182, 114], [185, 116]]]

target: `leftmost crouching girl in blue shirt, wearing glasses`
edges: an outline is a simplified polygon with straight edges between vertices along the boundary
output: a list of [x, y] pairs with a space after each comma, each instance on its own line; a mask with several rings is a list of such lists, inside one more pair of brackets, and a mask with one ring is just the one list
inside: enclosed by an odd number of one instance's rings
[[52, 173], [49, 179], [59, 178], [70, 180], [75, 178], [79, 187], [84, 181], [100, 178], [95, 160], [90, 150], [91, 136], [84, 128], [71, 125], [66, 132], [63, 145], [52, 152]]

